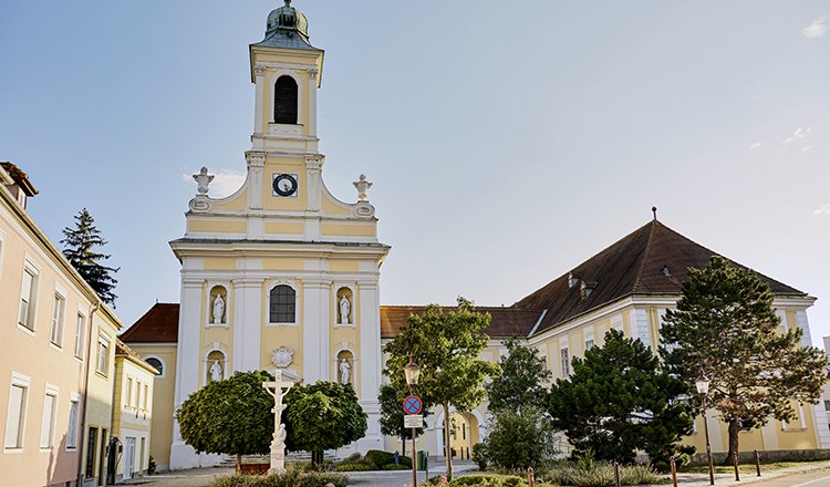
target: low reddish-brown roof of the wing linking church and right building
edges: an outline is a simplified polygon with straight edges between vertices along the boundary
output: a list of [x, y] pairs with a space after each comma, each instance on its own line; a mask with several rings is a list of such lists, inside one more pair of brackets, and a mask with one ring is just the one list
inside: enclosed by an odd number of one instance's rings
[[[411, 314], [423, 314], [426, 307], [381, 307], [381, 338], [391, 339], [397, 334], [401, 328], [406, 323]], [[455, 311], [456, 307], [442, 307], [445, 312]], [[533, 329], [539, 318], [540, 311], [519, 310], [516, 308], [483, 308], [476, 307], [476, 311], [490, 313], [492, 321], [485, 329], [485, 333], [490, 338], [510, 338], [527, 336]]]

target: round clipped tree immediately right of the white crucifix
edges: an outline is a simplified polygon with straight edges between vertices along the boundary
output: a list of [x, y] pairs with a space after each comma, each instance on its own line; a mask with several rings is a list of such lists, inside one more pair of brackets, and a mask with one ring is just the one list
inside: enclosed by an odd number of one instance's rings
[[318, 382], [294, 385], [284, 398], [286, 445], [290, 450], [322, 452], [356, 442], [366, 434], [366, 414], [351, 384]]

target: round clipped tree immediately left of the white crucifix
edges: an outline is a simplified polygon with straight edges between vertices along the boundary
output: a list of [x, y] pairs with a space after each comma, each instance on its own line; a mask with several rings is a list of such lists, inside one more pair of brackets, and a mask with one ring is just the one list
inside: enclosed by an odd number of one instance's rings
[[181, 438], [198, 453], [236, 455], [237, 473], [242, 455], [269, 453], [273, 397], [262, 388], [266, 381], [273, 376], [237, 372], [190, 394], [176, 411]]

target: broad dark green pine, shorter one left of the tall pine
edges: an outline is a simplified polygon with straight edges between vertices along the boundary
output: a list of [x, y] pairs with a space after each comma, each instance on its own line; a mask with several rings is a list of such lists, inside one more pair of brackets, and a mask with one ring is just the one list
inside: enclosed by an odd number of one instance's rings
[[572, 365], [571, 376], [551, 388], [549, 412], [575, 455], [590, 449], [599, 459], [631, 464], [635, 450], [643, 449], [662, 462], [692, 433], [688, 406], [674, 401], [686, 392], [685, 384], [662, 370], [640, 340], [611, 330], [603, 346]]

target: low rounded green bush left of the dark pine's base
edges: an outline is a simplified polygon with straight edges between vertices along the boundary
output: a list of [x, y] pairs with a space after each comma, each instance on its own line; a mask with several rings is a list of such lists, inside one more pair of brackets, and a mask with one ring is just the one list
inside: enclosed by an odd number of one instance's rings
[[487, 458], [507, 469], [537, 467], [553, 454], [549, 423], [537, 412], [501, 413], [487, 437]]

